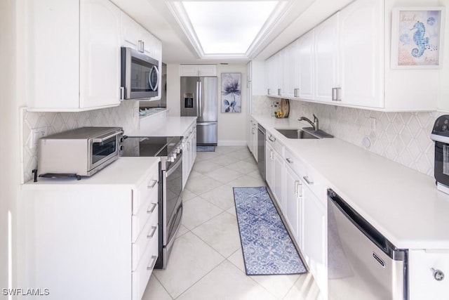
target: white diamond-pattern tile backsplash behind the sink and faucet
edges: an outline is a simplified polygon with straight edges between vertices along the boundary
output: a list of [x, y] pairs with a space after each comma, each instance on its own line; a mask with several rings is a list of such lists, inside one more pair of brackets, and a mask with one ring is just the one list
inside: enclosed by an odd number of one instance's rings
[[[278, 98], [253, 97], [253, 113], [267, 115], [270, 105]], [[438, 112], [380, 112], [351, 107], [290, 100], [290, 118], [319, 118], [320, 129], [336, 138], [363, 146], [382, 157], [406, 165], [429, 176], [434, 176], [434, 142], [430, 133]], [[371, 130], [371, 118], [375, 119], [375, 131]], [[307, 122], [298, 126], [310, 126]]]

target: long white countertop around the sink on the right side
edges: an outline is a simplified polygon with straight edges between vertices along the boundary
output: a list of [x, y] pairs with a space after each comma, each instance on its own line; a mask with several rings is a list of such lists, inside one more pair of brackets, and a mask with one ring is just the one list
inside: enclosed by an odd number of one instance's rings
[[449, 249], [449, 195], [433, 177], [338, 138], [289, 139], [274, 129], [308, 126], [295, 119], [253, 117], [396, 247]]

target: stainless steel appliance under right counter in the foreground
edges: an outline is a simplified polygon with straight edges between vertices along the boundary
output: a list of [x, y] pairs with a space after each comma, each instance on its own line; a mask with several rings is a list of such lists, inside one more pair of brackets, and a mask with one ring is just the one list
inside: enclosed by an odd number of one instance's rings
[[408, 249], [397, 249], [328, 190], [328, 299], [408, 299]]

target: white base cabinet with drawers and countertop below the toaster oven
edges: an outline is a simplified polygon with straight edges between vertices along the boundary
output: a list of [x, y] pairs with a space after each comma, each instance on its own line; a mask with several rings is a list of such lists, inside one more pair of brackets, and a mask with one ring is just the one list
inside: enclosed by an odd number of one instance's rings
[[159, 255], [158, 181], [157, 159], [121, 157], [81, 181], [28, 183], [24, 286], [47, 299], [140, 300]]

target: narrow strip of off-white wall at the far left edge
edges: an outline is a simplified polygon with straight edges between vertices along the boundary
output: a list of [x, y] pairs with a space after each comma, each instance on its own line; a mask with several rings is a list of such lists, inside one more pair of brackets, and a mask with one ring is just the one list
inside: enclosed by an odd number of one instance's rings
[[[8, 214], [12, 216], [12, 254], [16, 252], [16, 217], [19, 187], [19, 117], [15, 94], [15, 5], [14, 0], [0, 1], [0, 288], [15, 284], [15, 275], [8, 278]], [[12, 271], [15, 274], [16, 257]]]

